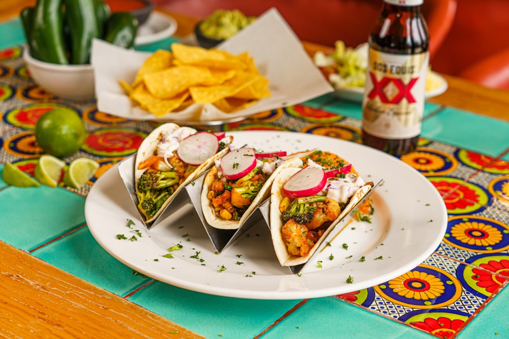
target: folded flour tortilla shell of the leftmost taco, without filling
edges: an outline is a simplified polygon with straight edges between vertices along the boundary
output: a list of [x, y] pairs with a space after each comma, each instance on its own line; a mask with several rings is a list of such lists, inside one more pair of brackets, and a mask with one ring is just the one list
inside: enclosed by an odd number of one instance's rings
[[[138, 169], [139, 163], [142, 161], [157, 155], [157, 145], [161, 142], [162, 136], [168, 132], [168, 131], [175, 131], [178, 128], [180, 128], [179, 125], [174, 124], [173, 122], [168, 122], [167, 124], [163, 124], [156, 128], [154, 131], [152, 131], [140, 144], [138, 148], [138, 152], [136, 154], [136, 160], [134, 162], [134, 187], [136, 189], [136, 192], [138, 191], [138, 182], [140, 176], [142, 176], [143, 172], [145, 172], [146, 169]], [[233, 137], [230, 137], [230, 142], [233, 140]], [[148, 218], [145, 222], [147, 224], [152, 223], [154, 220], [159, 217], [159, 214], [162, 213], [162, 211], [168, 206], [168, 204], [175, 198], [175, 196], [192, 180], [196, 179], [200, 175], [204, 174], [213, 164], [214, 160], [224, 156], [228, 152], [228, 147], [223, 148], [219, 152], [215, 153], [214, 156], [209, 158], [207, 161], [202, 163], [200, 166], [196, 167], [194, 172], [189, 174], [189, 176], [182, 182], [182, 184], [175, 190], [175, 192], [169, 196], [168, 199], [162, 204], [161, 208], [154, 214], [151, 215], [150, 218]]]

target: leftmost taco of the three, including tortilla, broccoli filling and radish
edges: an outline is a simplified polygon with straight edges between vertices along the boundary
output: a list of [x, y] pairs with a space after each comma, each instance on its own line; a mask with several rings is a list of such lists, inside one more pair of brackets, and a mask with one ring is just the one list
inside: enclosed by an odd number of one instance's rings
[[152, 223], [181, 189], [228, 151], [233, 137], [163, 124], [139, 146], [134, 164], [138, 209]]

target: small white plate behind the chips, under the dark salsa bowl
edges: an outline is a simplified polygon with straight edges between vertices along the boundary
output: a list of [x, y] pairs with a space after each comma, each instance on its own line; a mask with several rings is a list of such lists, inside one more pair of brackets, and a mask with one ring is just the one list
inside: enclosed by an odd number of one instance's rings
[[177, 30], [177, 21], [169, 15], [153, 11], [147, 21], [138, 27], [134, 45], [147, 45], [171, 37]]

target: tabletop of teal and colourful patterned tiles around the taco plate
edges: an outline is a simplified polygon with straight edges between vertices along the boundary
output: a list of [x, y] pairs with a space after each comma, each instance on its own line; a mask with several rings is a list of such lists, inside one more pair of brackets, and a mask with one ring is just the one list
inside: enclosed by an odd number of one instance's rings
[[[42, 153], [34, 143], [35, 120], [23, 120], [19, 108], [35, 114], [37, 104], [68, 105], [79, 112], [94, 136], [139, 137], [155, 127], [147, 121], [108, 119], [92, 101], [71, 103], [44, 93], [24, 72], [19, 22], [0, 26], [0, 32], [9, 33], [0, 40], [0, 163], [14, 163], [33, 173]], [[33, 118], [34, 114], [23, 116]], [[359, 119], [357, 103], [327, 95], [215, 128], [284, 128], [359, 142]], [[238, 299], [184, 290], [137, 274], [101, 248], [83, 213], [95, 180], [135, 150], [104, 151], [93, 142], [73, 156], [101, 164], [96, 176], [80, 190], [63, 186], [21, 189], [0, 180], [0, 240], [209, 338], [509, 337], [508, 149], [509, 122], [426, 104], [420, 148], [402, 161], [440, 191], [449, 225], [435, 252], [394, 281], [407, 286], [406, 292], [417, 281], [443, 282], [445, 291], [436, 292], [429, 303], [419, 302], [416, 289], [414, 297], [403, 297], [390, 291], [388, 284], [316, 299]], [[13, 321], [23, 325], [21, 320]]]

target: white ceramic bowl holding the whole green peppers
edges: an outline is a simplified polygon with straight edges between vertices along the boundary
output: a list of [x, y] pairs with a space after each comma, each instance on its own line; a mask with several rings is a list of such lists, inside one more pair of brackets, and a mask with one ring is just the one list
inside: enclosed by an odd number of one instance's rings
[[28, 49], [23, 59], [31, 77], [49, 93], [65, 99], [85, 100], [95, 96], [92, 65], [58, 65], [34, 59]]

